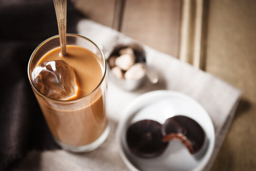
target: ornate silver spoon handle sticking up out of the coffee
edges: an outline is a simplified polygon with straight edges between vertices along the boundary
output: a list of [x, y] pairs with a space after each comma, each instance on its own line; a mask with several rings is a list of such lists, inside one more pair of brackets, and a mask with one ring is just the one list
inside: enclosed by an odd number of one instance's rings
[[53, 0], [58, 21], [60, 56], [66, 55], [67, 0]]

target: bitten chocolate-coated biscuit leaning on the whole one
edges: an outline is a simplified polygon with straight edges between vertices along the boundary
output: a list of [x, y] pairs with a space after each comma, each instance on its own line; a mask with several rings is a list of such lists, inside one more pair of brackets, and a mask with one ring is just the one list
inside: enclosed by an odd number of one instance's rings
[[198, 152], [205, 142], [205, 132], [193, 119], [177, 115], [168, 118], [162, 126], [163, 142], [178, 140], [191, 154]]

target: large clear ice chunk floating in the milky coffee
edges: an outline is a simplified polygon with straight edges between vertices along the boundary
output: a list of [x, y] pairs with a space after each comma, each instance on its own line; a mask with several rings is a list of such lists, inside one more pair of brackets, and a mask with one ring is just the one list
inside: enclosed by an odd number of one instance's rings
[[32, 72], [32, 81], [43, 95], [71, 100], [78, 93], [74, 69], [64, 60], [43, 62]]

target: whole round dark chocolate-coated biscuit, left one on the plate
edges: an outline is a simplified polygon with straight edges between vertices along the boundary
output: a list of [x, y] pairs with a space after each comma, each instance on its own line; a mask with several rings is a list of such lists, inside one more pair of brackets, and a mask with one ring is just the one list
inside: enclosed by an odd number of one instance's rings
[[141, 120], [128, 127], [126, 139], [132, 153], [142, 158], [157, 157], [167, 148], [163, 142], [162, 125], [153, 120]]

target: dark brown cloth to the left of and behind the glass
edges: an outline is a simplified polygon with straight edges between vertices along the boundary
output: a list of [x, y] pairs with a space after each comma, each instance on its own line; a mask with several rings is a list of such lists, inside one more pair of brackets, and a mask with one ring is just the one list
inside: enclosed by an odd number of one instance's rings
[[[29, 150], [57, 149], [30, 87], [27, 66], [33, 50], [57, 35], [52, 0], [0, 0], [0, 170]], [[67, 32], [80, 16], [68, 2]]]

